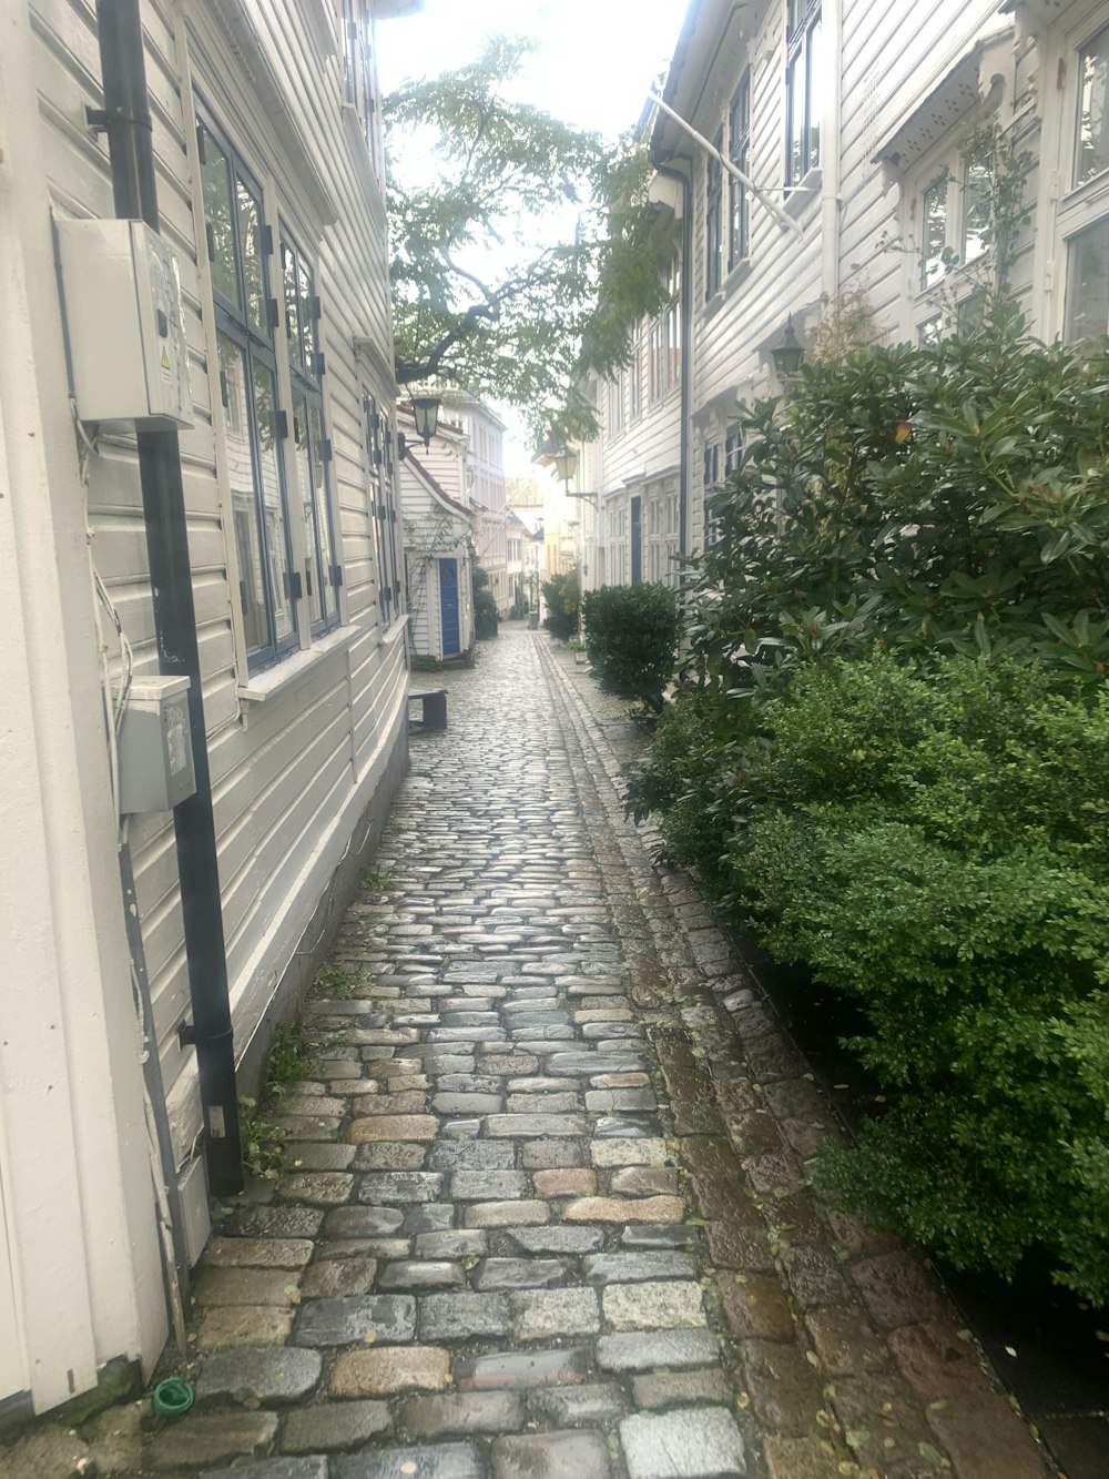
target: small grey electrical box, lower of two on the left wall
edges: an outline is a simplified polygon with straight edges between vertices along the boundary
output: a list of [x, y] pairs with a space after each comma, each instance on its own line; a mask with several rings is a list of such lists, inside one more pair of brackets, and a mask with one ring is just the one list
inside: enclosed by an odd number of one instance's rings
[[195, 790], [188, 677], [138, 679], [120, 731], [120, 812], [170, 812]]

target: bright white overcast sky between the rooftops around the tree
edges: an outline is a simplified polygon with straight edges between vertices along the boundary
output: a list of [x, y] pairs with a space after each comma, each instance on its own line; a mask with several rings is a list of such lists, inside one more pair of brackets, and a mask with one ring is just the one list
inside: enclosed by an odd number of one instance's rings
[[[381, 89], [473, 61], [489, 35], [526, 35], [538, 50], [525, 59], [516, 95], [615, 139], [639, 121], [686, 9], [688, 0], [424, 0], [423, 15], [379, 21]], [[512, 413], [504, 419], [509, 476], [543, 476], [512, 436]]]

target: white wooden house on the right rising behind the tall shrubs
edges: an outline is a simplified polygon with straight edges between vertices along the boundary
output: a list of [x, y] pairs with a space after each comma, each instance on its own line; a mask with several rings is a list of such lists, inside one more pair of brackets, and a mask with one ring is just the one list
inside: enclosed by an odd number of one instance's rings
[[[991, 272], [969, 154], [980, 130], [1031, 155], [1011, 274], [1031, 330], [1105, 333], [1108, 84], [1105, 0], [692, 0], [651, 139], [655, 195], [686, 228], [677, 361], [664, 368], [683, 404], [645, 386], [655, 358], [640, 325], [630, 367], [600, 387], [602, 578], [652, 578], [670, 479], [680, 549], [704, 544], [705, 490], [741, 454], [739, 405], [781, 390], [772, 352], [790, 319], [812, 346], [846, 302], [889, 342], [973, 315]], [[665, 325], [658, 342], [673, 345]]]

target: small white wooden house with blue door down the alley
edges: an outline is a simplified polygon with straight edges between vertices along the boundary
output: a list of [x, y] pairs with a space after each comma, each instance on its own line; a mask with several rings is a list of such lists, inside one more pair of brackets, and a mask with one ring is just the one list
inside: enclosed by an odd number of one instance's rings
[[439, 661], [469, 658], [478, 510], [436, 482], [421, 447], [401, 463], [401, 507], [413, 651]]

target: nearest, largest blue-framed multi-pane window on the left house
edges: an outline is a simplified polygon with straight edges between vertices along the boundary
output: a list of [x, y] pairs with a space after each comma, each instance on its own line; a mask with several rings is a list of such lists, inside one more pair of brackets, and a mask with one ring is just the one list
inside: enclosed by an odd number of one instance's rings
[[300, 640], [299, 575], [278, 450], [287, 424], [278, 404], [274, 241], [257, 180], [206, 117], [197, 121], [197, 145], [243, 626], [248, 667], [259, 669]]

